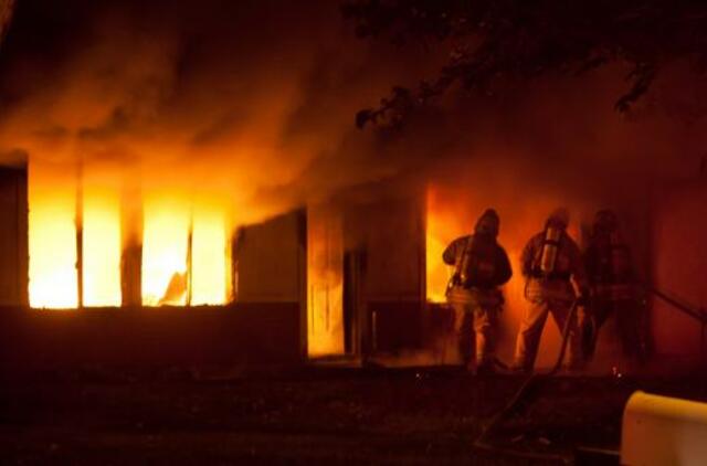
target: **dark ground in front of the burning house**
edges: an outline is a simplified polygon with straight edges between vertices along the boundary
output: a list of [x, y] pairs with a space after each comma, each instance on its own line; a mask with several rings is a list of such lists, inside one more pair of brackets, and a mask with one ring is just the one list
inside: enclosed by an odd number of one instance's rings
[[[331, 368], [6, 378], [0, 452], [2, 464], [528, 464], [473, 446], [521, 382]], [[535, 452], [618, 448], [623, 404], [637, 388], [707, 399], [696, 381], [556, 378], [495, 441]]]

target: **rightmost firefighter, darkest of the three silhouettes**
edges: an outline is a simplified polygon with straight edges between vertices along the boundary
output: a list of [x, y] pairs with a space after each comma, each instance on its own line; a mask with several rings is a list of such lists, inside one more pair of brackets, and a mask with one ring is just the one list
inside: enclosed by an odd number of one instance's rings
[[[592, 319], [597, 331], [612, 315], [623, 351], [643, 359], [641, 308], [636, 299], [631, 250], [623, 241], [616, 214], [597, 212], [584, 263], [592, 292]], [[591, 345], [589, 352], [593, 352]]]

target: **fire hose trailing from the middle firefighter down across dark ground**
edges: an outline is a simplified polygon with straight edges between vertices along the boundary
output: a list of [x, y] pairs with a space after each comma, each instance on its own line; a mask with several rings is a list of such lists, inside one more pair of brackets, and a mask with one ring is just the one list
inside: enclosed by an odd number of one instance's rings
[[553, 377], [562, 367], [562, 362], [564, 361], [564, 354], [567, 353], [567, 345], [569, 342], [570, 328], [572, 321], [577, 318], [577, 308], [579, 307], [579, 301], [574, 299], [572, 306], [570, 307], [570, 311], [567, 316], [567, 320], [564, 321], [564, 326], [562, 328], [562, 341], [560, 343], [560, 351], [557, 357], [557, 361], [552, 369], [550, 369], [546, 373], [532, 373], [528, 375], [528, 378], [523, 382], [520, 388], [516, 391], [516, 393], [511, 396], [510, 401], [506, 404], [506, 406], [500, 410], [490, 421], [486, 424], [486, 426], [482, 430], [481, 435], [474, 442], [474, 447], [478, 449], [483, 449], [490, 453], [505, 454], [516, 457], [523, 457], [526, 459], [538, 459], [538, 460], [547, 460], [547, 462], [559, 462], [564, 464], [571, 464], [572, 457], [568, 455], [557, 454], [557, 453], [535, 453], [535, 452], [519, 452], [509, 448], [502, 448], [496, 445], [493, 445], [489, 442], [490, 435], [495, 432], [495, 430], [500, 425], [502, 422], [507, 420], [515, 411], [526, 401], [526, 399], [532, 393], [532, 389], [537, 388], [538, 383], [542, 380], [547, 380]]

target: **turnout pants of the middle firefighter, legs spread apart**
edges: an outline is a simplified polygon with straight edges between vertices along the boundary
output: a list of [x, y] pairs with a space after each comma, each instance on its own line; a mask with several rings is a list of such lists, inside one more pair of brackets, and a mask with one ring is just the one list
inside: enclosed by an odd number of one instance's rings
[[[548, 314], [552, 315], [561, 333], [569, 317], [571, 306], [571, 301], [563, 299], [531, 301], [520, 324], [520, 330], [518, 331], [518, 338], [516, 340], [516, 354], [514, 358], [514, 366], [516, 368], [527, 371], [532, 370]], [[579, 369], [582, 366], [581, 335], [577, 314], [569, 327], [568, 366], [570, 369]]]

